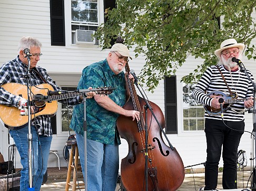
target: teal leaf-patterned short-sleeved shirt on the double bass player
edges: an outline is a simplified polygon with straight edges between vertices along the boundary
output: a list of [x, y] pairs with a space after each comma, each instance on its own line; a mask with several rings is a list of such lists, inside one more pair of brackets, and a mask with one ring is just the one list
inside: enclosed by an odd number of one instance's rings
[[[80, 82], [77, 89], [99, 88], [99, 87], [116, 88], [109, 95], [117, 105], [123, 107], [126, 100], [124, 72], [115, 75], [110, 69], [107, 60], [93, 63], [83, 69]], [[114, 144], [117, 138], [120, 144], [120, 137], [116, 129], [116, 120], [119, 114], [108, 111], [101, 107], [92, 99], [86, 100], [86, 123], [87, 139], [97, 141], [103, 144]], [[84, 133], [84, 105], [75, 105], [71, 120], [71, 129], [76, 133]]]

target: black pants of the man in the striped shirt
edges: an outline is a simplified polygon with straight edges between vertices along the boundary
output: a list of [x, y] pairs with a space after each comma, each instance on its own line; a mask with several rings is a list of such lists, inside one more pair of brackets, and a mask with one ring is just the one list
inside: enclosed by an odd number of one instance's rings
[[205, 187], [204, 190], [216, 189], [218, 184], [218, 165], [223, 146], [223, 189], [235, 188], [237, 175], [238, 145], [244, 130], [244, 121], [225, 121], [205, 119], [205, 135], [207, 142], [207, 158], [205, 164]]

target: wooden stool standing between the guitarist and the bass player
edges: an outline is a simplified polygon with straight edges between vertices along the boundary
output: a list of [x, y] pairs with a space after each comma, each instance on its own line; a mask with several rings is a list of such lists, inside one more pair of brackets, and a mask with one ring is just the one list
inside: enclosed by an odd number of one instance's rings
[[[81, 166], [78, 167], [78, 147], [77, 147], [77, 143], [76, 140], [68, 140], [66, 141], [66, 146], [71, 146], [71, 151], [70, 151], [70, 161], [68, 162], [68, 169], [67, 169], [67, 180], [66, 180], [66, 188], [65, 191], [68, 191], [69, 187], [72, 186], [72, 191], [75, 191], [76, 189], [84, 189], [84, 187], [82, 188], [81, 186], [84, 186], [84, 183], [79, 183], [79, 187], [76, 187], [76, 172], [78, 171], [78, 168], [81, 169]], [[73, 165], [73, 154], [75, 151], [75, 161], [74, 161], [74, 165]], [[72, 183], [70, 183], [70, 178], [71, 178], [71, 171], [73, 170], [73, 181]]]

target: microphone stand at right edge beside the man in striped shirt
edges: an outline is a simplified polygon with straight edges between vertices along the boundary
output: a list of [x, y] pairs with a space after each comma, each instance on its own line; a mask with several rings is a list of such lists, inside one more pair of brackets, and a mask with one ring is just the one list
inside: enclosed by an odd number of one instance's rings
[[[249, 76], [247, 69], [243, 66], [243, 63], [241, 61], [239, 61], [238, 66], [240, 67], [240, 71], [244, 72], [245, 75], [247, 76], [247, 78], [251, 81], [252, 86], [253, 86], [253, 132], [254, 132], [254, 154], [256, 153], [256, 102], [255, 102], [255, 92], [256, 92], [256, 83], [251, 79], [251, 77]], [[253, 155], [252, 155], [253, 156]], [[255, 160], [254, 157], [251, 158], [251, 160]], [[256, 169], [253, 163], [253, 173], [252, 173], [252, 180], [251, 180], [251, 190], [256, 190]]]

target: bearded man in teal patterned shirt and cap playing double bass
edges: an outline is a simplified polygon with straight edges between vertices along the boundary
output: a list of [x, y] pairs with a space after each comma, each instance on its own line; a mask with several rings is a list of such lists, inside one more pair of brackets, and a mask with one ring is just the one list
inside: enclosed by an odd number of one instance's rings
[[[88, 87], [114, 87], [109, 97], [95, 95], [86, 102], [87, 123], [87, 188], [93, 191], [114, 191], [119, 172], [120, 136], [116, 120], [120, 114], [140, 120], [140, 112], [124, 110], [122, 107], [130, 97], [123, 69], [131, 58], [123, 44], [112, 46], [105, 60], [84, 68], [78, 89]], [[132, 59], [132, 58], [131, 58]], [[129, 78], [133, 78], [129, 75]], [[84, 105], [76, 105], [70, 127], [76, 132], [76, 142], [84, 173]]]

